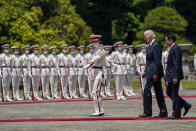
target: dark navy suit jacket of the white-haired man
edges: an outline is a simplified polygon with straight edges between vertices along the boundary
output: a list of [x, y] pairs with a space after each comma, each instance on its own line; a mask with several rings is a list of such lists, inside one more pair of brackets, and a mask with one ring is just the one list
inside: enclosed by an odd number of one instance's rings
[[152, 78], [153, 75], [157, 75], [158, 78], [163, 77], [162, 62], [162, 49], [161, 45], [155, 40], [147, 49], [146, 54], [146, 67], [145, 77], [146, 79]]

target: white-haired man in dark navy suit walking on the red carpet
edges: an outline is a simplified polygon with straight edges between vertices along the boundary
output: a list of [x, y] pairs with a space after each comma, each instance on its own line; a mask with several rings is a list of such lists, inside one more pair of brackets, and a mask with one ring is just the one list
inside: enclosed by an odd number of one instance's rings
[[157, 103], [160, 109], [158, 117], [167, 117], [167, 108], [163, 95], [161, 77], [163, 77], [163, 67], [161, 64], [162, 50], [161, 45], [155, 40], [155, 35], [152, 30], [144, 32], [144, 40], [148, 43], [146, 54], [145, 74], [146, 85], [144, 88], [144, 113], [140, 117], [152, 116], [152, 94], [151, 88], [154, 86]]

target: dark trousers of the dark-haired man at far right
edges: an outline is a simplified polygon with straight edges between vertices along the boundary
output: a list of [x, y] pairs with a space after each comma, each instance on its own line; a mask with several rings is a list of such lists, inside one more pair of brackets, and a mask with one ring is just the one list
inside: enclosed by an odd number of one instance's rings
[[173, 84], [173, 82], [168, 82], [167, 85], [167, 95], [169, 98], [172, 100], [172, 105], [173, 105], [173, 116], [179, 116], [181, 117], [181, 109], [183, 107], [189, 106], [189, 103], [187, 103], [184, 99], [182, 99], [179, 94], [179, 85], [180, 85], [180, 80], [176, 84]]

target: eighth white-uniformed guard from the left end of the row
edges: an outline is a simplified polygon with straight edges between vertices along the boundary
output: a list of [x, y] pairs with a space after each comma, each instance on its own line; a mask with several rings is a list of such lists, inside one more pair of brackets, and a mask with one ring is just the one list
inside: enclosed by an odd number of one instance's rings
[[69, 50], [70, 50], [70, 54], [68, 56], [68, 59], [69, 59], [69, 63], [70, 63], [70, 66], [69, 66], [69, 69], [70, 69], [70, 76], [69, 76], [70, 94], [71, 94], [71, 98], [78, 98], [78, 96], [76, 94], [77, 93], [76, 90], [78, 88], [79, 60], [78, 60], [78, 57], [76, 56], [75, 46], [70, 46]]

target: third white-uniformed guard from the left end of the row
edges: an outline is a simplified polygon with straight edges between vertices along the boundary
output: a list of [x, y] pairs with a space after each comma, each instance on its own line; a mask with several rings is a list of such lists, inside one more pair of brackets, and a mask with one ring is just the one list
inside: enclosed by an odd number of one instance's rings
[[30, 46], [23, 47], [24, 54], [22, 57], [22, 74], [23, 74], [23, 89], [24, 98], [31, 100], [31, 67], [30, 67]]

